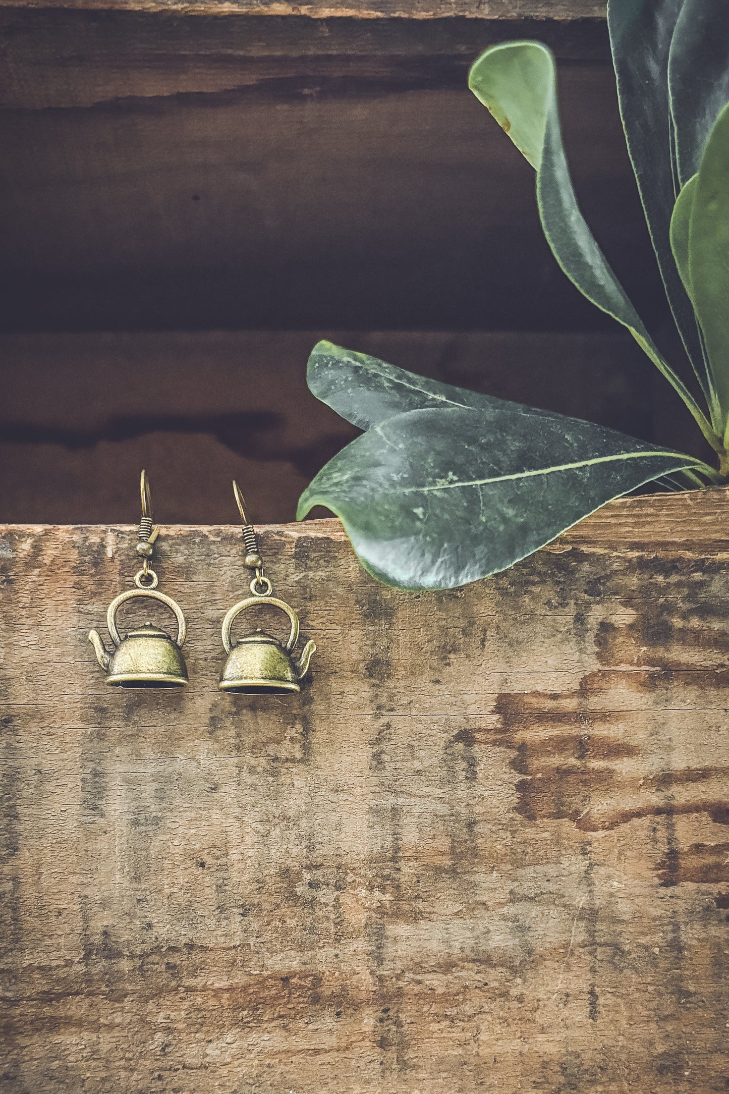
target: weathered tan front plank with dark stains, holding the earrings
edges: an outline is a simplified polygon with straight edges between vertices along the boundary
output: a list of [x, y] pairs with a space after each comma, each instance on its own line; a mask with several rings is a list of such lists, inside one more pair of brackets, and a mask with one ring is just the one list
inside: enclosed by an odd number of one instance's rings
[[726, 1090], [728, 501], [416, 596], [268, 527], [286, 701], [216, 690], [239, 529], [163, 528], [190, 687], [137, 695], [133, 529], [5, 527], [3, 1090]]

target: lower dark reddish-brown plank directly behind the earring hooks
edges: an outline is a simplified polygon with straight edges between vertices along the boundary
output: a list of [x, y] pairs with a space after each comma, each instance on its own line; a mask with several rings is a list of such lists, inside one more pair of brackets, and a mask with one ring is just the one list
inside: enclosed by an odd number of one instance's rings
[[259, 520], [293, 520], [310, 478], [357, 432], [306, 387], [306, 360], [322, 336], [435, 380], [707, 455], [683, 404], [618, 330], [16, 335], [0, 338], [0, 517], [132, 519], [146, 467], [161, 520], [230, 520], [233, 477]]

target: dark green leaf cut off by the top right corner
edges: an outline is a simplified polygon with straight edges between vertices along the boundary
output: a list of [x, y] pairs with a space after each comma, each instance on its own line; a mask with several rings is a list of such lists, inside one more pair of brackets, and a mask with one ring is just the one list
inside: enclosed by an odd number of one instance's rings
[[729, 101], [727, 0], [683, 0], [669, 50], [668, 85], [683, 186], [698, 171], [712, 127]]

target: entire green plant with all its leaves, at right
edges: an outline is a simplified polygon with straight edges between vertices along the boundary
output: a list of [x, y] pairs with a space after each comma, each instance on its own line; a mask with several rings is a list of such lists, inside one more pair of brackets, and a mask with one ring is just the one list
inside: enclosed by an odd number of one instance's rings
[[557, 263], [631, 331], [685, 403], [718, 468], [319, 342], [311, 391], [366, 432], [316, 476], [297, 515], [315, 504], [337, 513], [363, 565], [388, 584], [474, 581], [645, 482], [686, 488], [729, 475], [729, 3], [609, 0], [608, 21], [627, 147], [704, 406], [654, 344], [579, 211], [550, 50], [538, 42], [492, 46], [469, 86], [534, 168]]

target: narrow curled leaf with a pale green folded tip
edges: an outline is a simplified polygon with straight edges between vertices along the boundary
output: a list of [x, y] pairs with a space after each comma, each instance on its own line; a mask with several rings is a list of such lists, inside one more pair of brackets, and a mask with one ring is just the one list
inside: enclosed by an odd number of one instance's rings
[[[538, 42], [492, 46], [471, 67], [469, 88], [536, 168], [542, 228], [564, 272], [589, 301], [627, 327], [716, 446], [701, 407], [660, 356], [579, 211], [562, 144], [551, 51]], [[668, 222], [666, 228], [669, 245]]]

